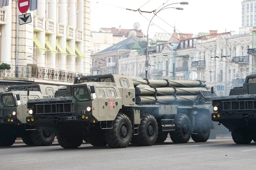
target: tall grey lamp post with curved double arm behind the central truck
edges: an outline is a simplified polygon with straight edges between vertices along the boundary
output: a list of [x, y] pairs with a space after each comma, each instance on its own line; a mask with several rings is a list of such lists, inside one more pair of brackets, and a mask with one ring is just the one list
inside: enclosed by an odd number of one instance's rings
[[[189, 4], [188, 2], [180, 2], [180, 3], [172, 3], [172, 4], [169, 4], [167, 6], [170, 6], [170, 5], [173, 5], [173, 4], [181, 4], [181, 5], [187, 5]], [[163, 8], [161, 8], [159, 11], [157, 11], [154, 16], [157, 15], [158, 12], [164, 10], [164, 9], [168, 9], [168, 8], [174, 8], [174, 7], [168, 7], [166, 8], [167, 6], [164, 6]], [[180, 7], [177, 7], [175, 8], [177, 10], [183, 10], [183, 8], [180, 8]], [[148, 24], [148, 29], [149, 29], [149, 26], [151, 24], [151, 21], [153, 20], [154, 16], [151, 18], [149, 24]], [[147, 43], [146, 43], [146, 61], [145, 61], [145, 78], [148, 79], [148, 31], [147, 31]]]

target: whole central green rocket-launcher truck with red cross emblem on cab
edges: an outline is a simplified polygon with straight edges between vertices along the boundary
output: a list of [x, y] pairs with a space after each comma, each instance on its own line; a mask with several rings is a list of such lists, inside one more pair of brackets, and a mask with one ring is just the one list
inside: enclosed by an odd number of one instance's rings
[[[76, 77], [52, 99], [27, 102], [27, 124], [57, 133], [64, 148], [206, 142], [213, 129], [212, 95], [201, 81], [148, 80], [107, 74]], [[196, 114], [194, 112], [196, 111]]]

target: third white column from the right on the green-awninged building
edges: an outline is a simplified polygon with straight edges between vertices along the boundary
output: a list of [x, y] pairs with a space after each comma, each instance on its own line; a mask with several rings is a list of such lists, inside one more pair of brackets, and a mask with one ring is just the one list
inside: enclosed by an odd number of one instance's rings
[[[64, 25], [64, 37], [58, 37], [58, 43], [61, 45], [61, 47], [66, 50], [66, 44], [67, 44], [67, 0], [60, 0], [60, 8], [59, 8], [59, 23]], [[62, 53], [58, 55], [58, 69], [60, 70], [66, 70], [67, 69], [67, 63], [66, 63], [66, 55], [63, 55]]]

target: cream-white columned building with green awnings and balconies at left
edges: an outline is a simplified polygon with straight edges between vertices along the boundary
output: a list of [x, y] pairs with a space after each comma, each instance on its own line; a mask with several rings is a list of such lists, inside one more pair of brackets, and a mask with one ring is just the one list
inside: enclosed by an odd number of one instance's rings
[[72, 82], [90, 74], [90, 0], [38, 0], [28, 13], [32, 23], [18, 25], [17, 0], [0, 8], [0, 61], [11, 65], [1, 79]]

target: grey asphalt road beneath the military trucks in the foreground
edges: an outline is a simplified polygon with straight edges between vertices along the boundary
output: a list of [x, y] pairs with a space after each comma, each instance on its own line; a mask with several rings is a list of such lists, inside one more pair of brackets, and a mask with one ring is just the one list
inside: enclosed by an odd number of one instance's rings
[[58, 144], [0, 148], [0, 170], [256, 170], [256, 143], [238, 145], [232, 139], [204, 143], [170, 140], [150, 147], [129, 145], [111, 149], [82, 144], [63, 149]]

